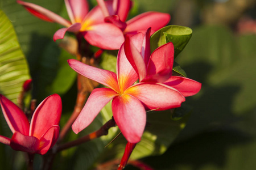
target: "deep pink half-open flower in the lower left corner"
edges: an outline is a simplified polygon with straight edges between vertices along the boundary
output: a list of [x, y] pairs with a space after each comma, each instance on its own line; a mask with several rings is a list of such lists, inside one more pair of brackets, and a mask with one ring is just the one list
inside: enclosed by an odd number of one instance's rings
[[0, 135], [0, 142], [14, 150], [30, 154], [46, 154], [59, 137], [61, 99], [57, 94], [48, 96], [36, 108], [31, 123], [13, 102], [0, 95], [3, 116], [13, 132], [13, 137]]

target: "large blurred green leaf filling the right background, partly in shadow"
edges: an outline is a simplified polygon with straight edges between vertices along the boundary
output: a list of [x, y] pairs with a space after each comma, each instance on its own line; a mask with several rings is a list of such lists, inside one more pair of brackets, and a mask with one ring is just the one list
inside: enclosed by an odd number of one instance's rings
[[193, 109], [175, 145], [146, 163], [174, 170], [256, 167], [255, 41], [255, 35], [234, 36], [221, 26], [193, 29], [177, 62], [202, 90], [187, 97]]

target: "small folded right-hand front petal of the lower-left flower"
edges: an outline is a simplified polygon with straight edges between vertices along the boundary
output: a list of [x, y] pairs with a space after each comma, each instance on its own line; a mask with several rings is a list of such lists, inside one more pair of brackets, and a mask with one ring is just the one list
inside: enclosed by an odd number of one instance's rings
[[36, 153], [41, 155], [46, 154], [46, 152], [51, 149], [57, 142], [59, 131], [60, 127], [58, 125], [51, 126], [51, 128], [49, 128], [46, 133], [44, 133], [43, 136], [39, 139], [39, 150]]

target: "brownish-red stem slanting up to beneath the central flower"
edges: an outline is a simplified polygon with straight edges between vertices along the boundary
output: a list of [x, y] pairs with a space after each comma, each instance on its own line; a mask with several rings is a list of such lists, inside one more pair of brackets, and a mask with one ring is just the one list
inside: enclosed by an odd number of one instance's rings
[[114, 118], [106, 122], [101, 128], [97, 131], [94, 131], [93, 133], [90, 133], [84, 137], [81, 137], [79, 139], [76, 139], [75, 141], [71, 141], [68, 143], [64, 143], [63, 145], [57, 146], [57, 152], [60, 152], [62, 150], [65, 150], [67, 148], [71, 148], [77, 145], [80, 145], [82, 143], [92, 141], [95, 138], [101, 137], [102, 135], [107, 135], [110, 128], [116, 126]]

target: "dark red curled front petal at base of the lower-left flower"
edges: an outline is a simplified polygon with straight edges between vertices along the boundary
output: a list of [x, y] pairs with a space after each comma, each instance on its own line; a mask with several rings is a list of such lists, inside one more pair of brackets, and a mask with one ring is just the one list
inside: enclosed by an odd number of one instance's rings
[[13, 137], [11, 137], [10, 146], [16, 151], [24, 151], [34, 154], [39, 148], [39, 139], [23, 135], [16, 131], [13, 134]]

